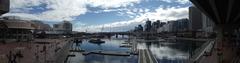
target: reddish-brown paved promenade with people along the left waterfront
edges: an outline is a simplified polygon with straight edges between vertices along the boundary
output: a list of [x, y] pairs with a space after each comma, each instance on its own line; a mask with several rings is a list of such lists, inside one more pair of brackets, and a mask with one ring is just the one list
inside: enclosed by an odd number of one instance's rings
[[56, 55], [68, 43], [69, 39], [35, 39], [0, 44], [0, 63], [56, 63]]

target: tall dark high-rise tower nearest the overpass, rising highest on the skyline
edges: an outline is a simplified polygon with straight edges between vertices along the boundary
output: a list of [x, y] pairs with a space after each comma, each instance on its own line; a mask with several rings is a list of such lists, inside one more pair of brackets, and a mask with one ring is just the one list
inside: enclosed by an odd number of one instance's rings
[[191, 31], [202, 31], [202, 12], [194, 7], [189, 7], [189, 20]]

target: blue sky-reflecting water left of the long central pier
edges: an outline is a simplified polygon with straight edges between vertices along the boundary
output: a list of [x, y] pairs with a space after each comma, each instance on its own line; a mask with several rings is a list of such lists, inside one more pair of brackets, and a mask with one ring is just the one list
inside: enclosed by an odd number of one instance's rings
[[[129, 48], [119, 47], [121, 43], [125, 42], [125, 39], [102, 39], [105, 43], [96, 44], [90, 43], [89, 40], [83, 40], [79, 46], [85, 51], [104, 50], [104, 51], [130, 51]], [[82, 55], [81, 53], [74, 52], [76, 57], [70, 57], [68, 63], [137, 63], [137, 56], [109, 56], [89, 54]]]

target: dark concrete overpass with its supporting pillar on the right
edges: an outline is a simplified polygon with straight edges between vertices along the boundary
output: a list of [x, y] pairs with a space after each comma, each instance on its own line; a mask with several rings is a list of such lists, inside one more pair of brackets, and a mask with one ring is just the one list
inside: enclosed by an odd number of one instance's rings
[[[233, 46], [237, 42], [231, 41], [235, 31], [240, 28], [240, 0], [190, 0], [201, 12], [212, 19], [217, 28], [217, 49], [212, 63], [230, 63], [238, 58], [239, 46]], [[210, 56], [211, 57], [211, 56]], [[208, 57], [208, 58], [210, 58]]]

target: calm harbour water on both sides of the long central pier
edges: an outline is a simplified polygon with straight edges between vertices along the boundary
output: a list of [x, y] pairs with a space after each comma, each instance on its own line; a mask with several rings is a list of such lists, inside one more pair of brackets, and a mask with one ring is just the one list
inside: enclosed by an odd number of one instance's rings
[[[74, 48], [82, 48], [85, 51], [104, 50], [104, 51], [130, 51], [130, 48], [119, 47], [121, 43], [127, 39], [102, 39], [105, 43], [93, 44], [88, 40], [83, 40], [79, 46]], [[201, 43], [201, 42], [200, 42]], [[75, 45], [75, 44], [74, 44]], [[168, 42], [148, 42], [138, 43], [138, 48], [149, 48], [152, 54], [160, 63], [185, 63], [189, 57], [189, 51], [194, 50], [195, 43], [191, 41], [168, 41]], [[69, 57], [68, 63], [137, 63], [138, 56], [110, 56], [110, 55], [82, 55], [74, 52], [76, 57]]]

